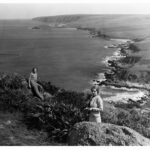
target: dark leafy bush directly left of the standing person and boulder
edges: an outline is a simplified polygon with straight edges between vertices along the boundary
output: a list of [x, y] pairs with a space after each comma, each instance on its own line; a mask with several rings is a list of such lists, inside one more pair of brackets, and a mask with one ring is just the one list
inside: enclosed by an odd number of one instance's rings
[[82, 93], [62, 90], [51, 101], [34, 106], [25, 113], [26, 124], [30, 128], [46, 130], [49, 138], [57, 142], [66, 142], [70, 128], [88, 119]]

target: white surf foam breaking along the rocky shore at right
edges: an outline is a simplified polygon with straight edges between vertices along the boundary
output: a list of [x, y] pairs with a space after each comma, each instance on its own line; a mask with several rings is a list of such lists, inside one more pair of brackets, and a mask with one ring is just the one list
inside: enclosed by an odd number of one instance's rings
[[[127, 42], [133, 43], [133, 41], [129, 39], [111, 39], [114, 41], [120, 42], [119, 44], [126, 44]], [[109, 48], [109, 46], [105, 46], [104, 48]], [[106, 56], [102, 63], [104, 63], [107, 67], [109, 67], [109, 61], [117, 61], [121, 59], [122, 57], [126, 57], [121, 54], [121, 48], [117, 48], [116, 51], [113, 53], [112, 56]], [[93, 82], [90, 82], [92, 85], [99, 84], [102, 81], [105, 81], [105, 75], [104, 73], [99, 73], [96, 76], [96, 79], [93, 80]], [[138, 88], [148, 88], [150, 89], [150, 86], [143, 85], [139, 83], [132, 83], [127, 81], [126, 82], [127, 87], [115, 87], [115, 86], [101, 86], [101, 95], [105, 95], [103, 99], [105, 101], [113, 101], [113, 102], [124, 102], [127, 103], [129, 99], [132, 99], [133, 101], [141, 100], [142, 98], [147, 98], [149, 92], [147, 90], [141, 90]]]

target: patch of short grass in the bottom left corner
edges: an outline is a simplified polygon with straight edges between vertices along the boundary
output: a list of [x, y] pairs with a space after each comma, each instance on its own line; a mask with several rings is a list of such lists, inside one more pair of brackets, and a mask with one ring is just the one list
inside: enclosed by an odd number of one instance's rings
[[29, 130], [22, 123], [20, 112], [0, 112], [0, 145], [52, 145], [46, 142], [47, 133], [37, 130]]

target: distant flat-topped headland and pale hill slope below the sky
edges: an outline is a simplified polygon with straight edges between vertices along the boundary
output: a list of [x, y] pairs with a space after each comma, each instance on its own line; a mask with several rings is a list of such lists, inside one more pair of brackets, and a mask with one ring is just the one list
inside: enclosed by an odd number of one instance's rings
[[95, 28], [115, 37], [137, 38], [150, 35], [150, 15], [60, 15], [33, 18], [69, 27]]

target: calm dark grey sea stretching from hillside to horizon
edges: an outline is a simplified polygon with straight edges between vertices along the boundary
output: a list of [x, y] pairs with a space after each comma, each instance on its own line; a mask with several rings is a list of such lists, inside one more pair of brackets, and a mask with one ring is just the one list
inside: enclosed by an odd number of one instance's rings
[[63, 28], [32, 29], [32, 24], [0, 21], [0, 71], [29, 75], [38, 67], [41, 80], [64, 89], [83, 91], [104, 72], [102, 60], [115, 49], [87, 31]]

